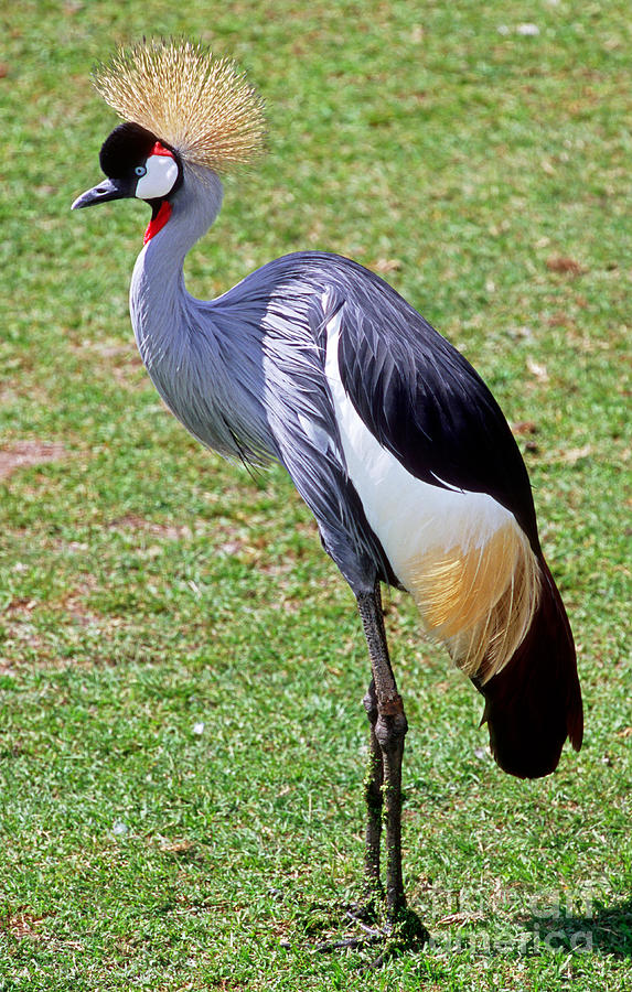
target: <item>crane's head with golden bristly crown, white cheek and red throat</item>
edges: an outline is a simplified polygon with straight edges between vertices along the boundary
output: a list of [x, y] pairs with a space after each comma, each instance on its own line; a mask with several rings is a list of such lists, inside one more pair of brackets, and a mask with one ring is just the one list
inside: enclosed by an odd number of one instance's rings
[[152, 208], [146, 244], [169, 220], [190, 171], [221, 175], [263, 149], [261, 100], [235, 63], [203, 45], [143, 42], [120, 50], [93, 82], [125, 123], [100, 151], [107, 179], [75, 200], [73, 209], [144, 200]]

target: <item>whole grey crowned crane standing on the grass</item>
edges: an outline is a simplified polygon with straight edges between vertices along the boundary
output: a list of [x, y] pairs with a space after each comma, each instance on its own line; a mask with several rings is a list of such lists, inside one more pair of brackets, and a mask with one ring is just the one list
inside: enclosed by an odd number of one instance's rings
[[124, 119], [101, 183], [74, 208], [151, 206], [130, 290], [136, 341], [160, 396], [228, 459], [280, 462], [355, 594], [371, 658], [364, 705], [365, 870], [405, 915], [401, 758], [407, 730], [388, 657], [381, 583], [407, 590], [427, 633], [484, 697], [505, 772], [553, 772], [582, 705], [566, 612], [545, 562], [526, 468], [486, 386], [422, 316], [347, 258], [301, 251], [216, 300], [184, 287], [186, 252], [213, 224], [219, 176], [261, 148], [260, 101], [201, 45], [143, 42], [95, 73]]

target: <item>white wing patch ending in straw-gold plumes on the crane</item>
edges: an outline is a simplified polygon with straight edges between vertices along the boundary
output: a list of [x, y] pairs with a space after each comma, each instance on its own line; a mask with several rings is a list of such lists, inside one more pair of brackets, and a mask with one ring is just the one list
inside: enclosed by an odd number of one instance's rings
[[492, 496], [422, 482], [379, 444], [342, 385], [340, 326], [336, 314], [326, 328], [325, 374], [366, 519], [428, 633], [447, 644], [467, 675], [486, 681], [529, 628], [537, 559], [513, 514]]

